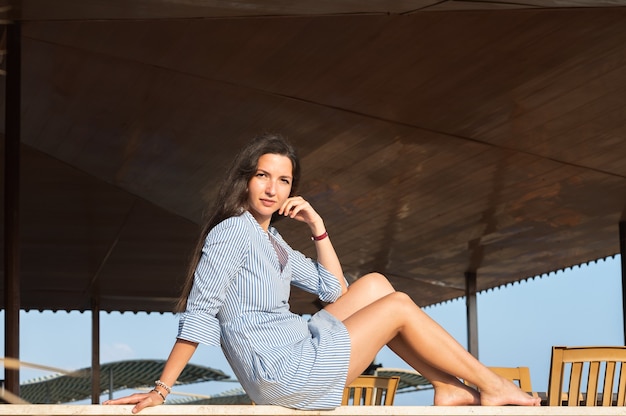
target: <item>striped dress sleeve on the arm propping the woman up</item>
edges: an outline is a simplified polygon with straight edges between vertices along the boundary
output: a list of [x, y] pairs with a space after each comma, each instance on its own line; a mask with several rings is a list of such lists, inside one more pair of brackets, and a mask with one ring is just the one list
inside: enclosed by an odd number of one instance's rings
[[194, 273], [187, 309], [180, 317], [177, 338], [220, 345], [216, 315], [247, 256], [249, 244], [249, 233], [236, 217], [219, 223], [209, 232]]

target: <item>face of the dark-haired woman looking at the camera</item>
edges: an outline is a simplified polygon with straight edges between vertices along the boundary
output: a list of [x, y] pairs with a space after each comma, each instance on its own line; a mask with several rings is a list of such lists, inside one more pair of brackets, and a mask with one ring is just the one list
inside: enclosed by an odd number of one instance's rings
[[248, 209], [267, 230], [272, 214], [291, 192], [292, 165], [287, 156], [266, 153], [259, 158], [254, 176], [248, 182]]

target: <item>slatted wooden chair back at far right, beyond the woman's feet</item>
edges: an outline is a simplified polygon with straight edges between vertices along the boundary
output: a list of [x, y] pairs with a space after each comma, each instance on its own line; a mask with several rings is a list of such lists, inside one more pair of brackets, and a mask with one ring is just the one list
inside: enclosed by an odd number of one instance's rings
[[625, 365], [623, 346], [552, 347], [548, 406], [626, 406]]

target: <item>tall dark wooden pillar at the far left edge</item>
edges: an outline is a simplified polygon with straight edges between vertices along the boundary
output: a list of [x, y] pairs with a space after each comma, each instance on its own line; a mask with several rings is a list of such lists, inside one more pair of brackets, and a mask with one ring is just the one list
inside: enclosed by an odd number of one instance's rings
[[[4, 354], [20, 358], [20, 107], [21, 27], [7, 28], [4, 138]], [[4, 369], [5, 388], [20, 394], [20, 370]]]

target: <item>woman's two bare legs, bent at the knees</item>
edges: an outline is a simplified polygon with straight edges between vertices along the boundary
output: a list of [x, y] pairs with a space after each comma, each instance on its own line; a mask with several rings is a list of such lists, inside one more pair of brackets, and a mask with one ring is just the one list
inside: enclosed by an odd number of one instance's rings
[[[370, 274], [358, 279], [326, 310], [341, 319], [352, 342], [348, 380], [356, 378], [386, 344], [435, 388], [435, 404], [539, 405], [512, 382], [476, 360], [387, 279]], [[478, 386], [462, 384], [457, 377]]]

